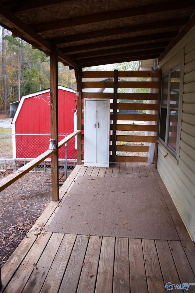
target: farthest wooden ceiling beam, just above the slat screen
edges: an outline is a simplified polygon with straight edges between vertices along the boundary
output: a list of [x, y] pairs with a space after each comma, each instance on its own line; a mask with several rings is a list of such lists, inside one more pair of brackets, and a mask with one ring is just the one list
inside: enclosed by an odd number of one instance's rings
[[[130, 62], [130, 61], [136, 61], [136, 60], [145, 60], [145, 59], [157, 59], [160, 54], [151, 54], [151, 55], [143, 55], [143, 56], [134, 56], [134, 57], [126, 57], [126, 58], [120, 58], [118, 60], [105, 60], [105, 61], [94, 61], [90, 63], [81, 63], [82, 67], [90, 67], [90, 66], [99, 66], [99, 65], [105, 65], [105, 64], [112, 64], [112, 63], [122, 63], [122, 62]], [[73, 69], [70, 67], [70, 69]]]

